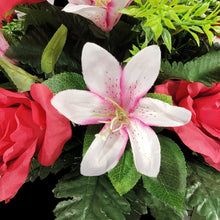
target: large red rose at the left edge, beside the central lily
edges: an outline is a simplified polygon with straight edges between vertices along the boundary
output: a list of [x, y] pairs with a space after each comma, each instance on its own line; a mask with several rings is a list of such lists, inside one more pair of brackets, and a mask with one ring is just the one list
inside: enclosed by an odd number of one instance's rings
[[31, 159], [52, 165], [71, 137], [68, 119], [51, 105], [43, 84], [17, 93], [0, 88], [0, 201], [9, 201], [25, 182]]

